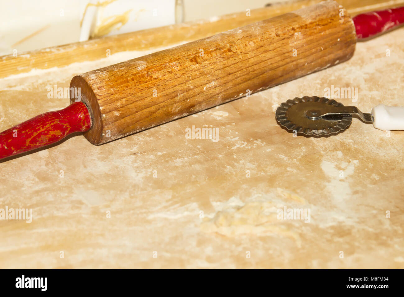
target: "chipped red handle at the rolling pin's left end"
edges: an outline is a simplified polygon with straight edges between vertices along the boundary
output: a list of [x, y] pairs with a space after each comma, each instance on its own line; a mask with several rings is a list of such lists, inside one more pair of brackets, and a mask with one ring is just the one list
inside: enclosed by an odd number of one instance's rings
[[91, 117], [83, 102], [42, 113], [0, 133], [0, 159], [53, 144], [69, 134], [90, 128]]

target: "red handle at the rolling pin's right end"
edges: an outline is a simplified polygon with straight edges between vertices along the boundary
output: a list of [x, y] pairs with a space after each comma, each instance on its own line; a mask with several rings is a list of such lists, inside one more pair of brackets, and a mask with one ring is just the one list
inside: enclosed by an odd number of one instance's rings
[[369, 38], [404, 23], [404, 7], [363, 13], [353, 23], [358, 39]]

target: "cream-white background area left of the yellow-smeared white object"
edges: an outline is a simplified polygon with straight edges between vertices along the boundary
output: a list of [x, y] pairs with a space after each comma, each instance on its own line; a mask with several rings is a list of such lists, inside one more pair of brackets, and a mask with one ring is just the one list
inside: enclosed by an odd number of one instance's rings
[[19, 55], [27, 50], [77, 42], [81, 3], [81, 0], [2, 1], [0, 55]]

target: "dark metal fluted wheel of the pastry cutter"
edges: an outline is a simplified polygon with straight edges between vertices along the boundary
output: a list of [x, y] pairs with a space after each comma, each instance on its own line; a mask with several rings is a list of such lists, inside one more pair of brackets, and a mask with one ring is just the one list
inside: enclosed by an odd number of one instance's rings
[[335, 100], [317, 96], [287, 100], [276, 109], [276, 120], [290, 132], [308, 136], [327, 136], [338, 134], [351, 125], [351, 115], [339, 115], [333, 118], [309, 119], [306, 111], [316, 110], [321, 114], [333, 112], [333, 108], [343, 106]]

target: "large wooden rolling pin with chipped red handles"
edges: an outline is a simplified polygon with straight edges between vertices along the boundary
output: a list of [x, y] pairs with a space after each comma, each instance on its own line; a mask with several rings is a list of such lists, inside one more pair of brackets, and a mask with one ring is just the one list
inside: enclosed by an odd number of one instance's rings
[[[389, 10], [385, 21], [397, 15]], [[2, 132], [0, 158], [79, 131], [103, 144], [336, 65], [351, 58], [355, 26], [363, 31], [366, 21], [354, 24], [337, 2], [324, 1], [75, 76], [80, 102]]]

